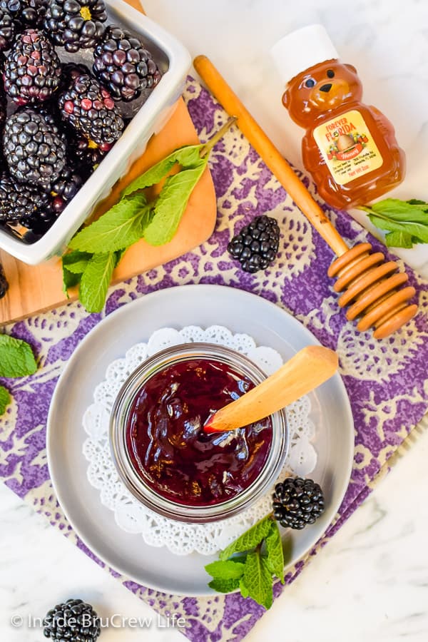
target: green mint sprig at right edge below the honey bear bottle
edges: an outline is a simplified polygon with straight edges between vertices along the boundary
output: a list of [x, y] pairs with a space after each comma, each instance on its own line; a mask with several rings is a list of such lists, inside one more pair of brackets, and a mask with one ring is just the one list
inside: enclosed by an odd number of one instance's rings
[[412, 248], [414, 243], [428, 243], [428, 203], [412, 198], [385, 198], [370, 207], [362, 206], [373, 225], [387, 232], [389, 248]]

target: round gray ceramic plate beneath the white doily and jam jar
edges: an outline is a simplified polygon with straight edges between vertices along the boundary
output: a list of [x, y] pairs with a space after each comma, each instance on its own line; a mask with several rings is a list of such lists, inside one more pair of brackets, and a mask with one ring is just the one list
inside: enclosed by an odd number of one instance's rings
[[[225, 325], [247, 332], [258, 345], [270, 345], [284, 360], [315, 337], [294, 317], [270, 302], [218, 285], [186, 285], [141, 297], [106, 317], [78, 346], [56, 386], [48, 419], [47, 451], [59, 502], [78, 536], [103, 561], [129, 578], [165, 593], [208, 595], [204, 565], [214, 558], [177, 556], [165, 547], [148, 546], [139, 535], [126, 534], [113, 513], [102, 506], [99, 492], [86, 479], [82, 454], [86, 433], [82, 417], [93, 389], [108, 364], [129, 347], [146, 341], [159, 327]], [[335, 516], [350, 480], [354, 427], [350, 402], [338, 374], [310, 395], [318, 462], [311, 477], [325, 491], [327, 509], [312, 526], [290, 537], [294, 564], [320, 538]]]

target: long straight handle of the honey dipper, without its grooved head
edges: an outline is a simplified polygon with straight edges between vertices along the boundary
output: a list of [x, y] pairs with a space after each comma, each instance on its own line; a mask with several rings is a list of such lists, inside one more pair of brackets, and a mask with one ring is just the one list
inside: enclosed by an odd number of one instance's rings
[[312, 198], [308, 190], [297, 177], [290, 165], [285, 161], [280, 151], [275, 147], [270, 138], [267, 138], [263, 129], [258, 125], [245, 108], [238, 96], [232, 91], [223, 76], [220, 75], [213, 63], [206, 56], [197, 56], [193, 61], [195, 70], [198, 71], [205, 85], [210, 89], [215, 98], [221, 103], [229, 116], [238, 118], [240, 131], [248, 138], [255, 151], [259, 154], [267, 167], [280, 181], [292, 200], [302, 213], [320, 233], [325, 242], [330, 245], [337, 256], [341, 256], [349, 249], [336, 228], [330, 223], [325, 213]]

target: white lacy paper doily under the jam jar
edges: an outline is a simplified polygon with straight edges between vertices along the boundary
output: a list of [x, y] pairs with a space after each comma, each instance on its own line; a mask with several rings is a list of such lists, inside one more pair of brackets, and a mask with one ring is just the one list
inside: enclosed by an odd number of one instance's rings
[[[89, 483], [100, 491], [101, 503], [114, 512], [116, 524], [121, 529], [127, 533], [142, 535], [146, 544], [151, 546], [167, 546], [177, 555], [193, 552], [211, 555], [224, 549], [255, 521], [270, 512], [270, 493], [241, 514], [223, 521], [212, 524], [174, 521], [146, 508], [126, 489], [116, 472], [108, 441], [111, 408], [123, 382], [151, 355], [171, 345], [189, 342], [208, 342], [233, 348], [247, 355], [266, 374], [272, 374], [282, 365], [282, 358], [276, 350], [256, 346], [249, 335], [233, 335], [220, 325], [212, 325], [206, 330], [193, 325], [183, 327], [182, 330], [156, 330], [147, 343], [133, 345], [123, 359], [117, 359], [108, 366], [106, 379], [96, 387], [94, 403], [83, 416], [83, 427], [88, 434], [83, 443], [83, 454], [89, 463]], [[315, 426], [309, 414], [308, 397], [302, 397], [287, 407], [290, 450], [280, 479], [287, 472], [305, 477], [315, 468], [317, 454], [310, 443], [315, 434]]]

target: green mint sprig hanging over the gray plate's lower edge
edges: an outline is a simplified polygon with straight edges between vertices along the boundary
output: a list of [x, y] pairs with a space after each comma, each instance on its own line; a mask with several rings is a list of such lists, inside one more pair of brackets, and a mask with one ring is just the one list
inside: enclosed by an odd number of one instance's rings
[[285, 581], [282, 541], [276, 521], [270, 516], [258, 521], [221, 551], [219, 557], [219, 561], [205, 566], [205, 571], [213, 577], [208, 586], [219, 593], [239, 588], [244, 598], [253, 598], [265, 608], [272, 606], [272, 576], [282, 584]]

